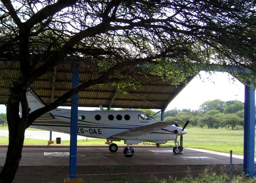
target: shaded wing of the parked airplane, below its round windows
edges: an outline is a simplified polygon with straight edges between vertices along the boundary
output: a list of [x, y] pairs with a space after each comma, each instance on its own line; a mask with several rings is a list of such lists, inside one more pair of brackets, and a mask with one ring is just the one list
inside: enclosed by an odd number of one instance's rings
[[141, 136], [141, 135], [146, 135], [149, 134], [151, 132], [154, 132], [156, 130], [160, 130], [161, 128], [164, 128], [166, 126], [170, 126], [173, 124], [177, 124], [176, 121], [168, 121], [168, 122], [157, 122], [154, 124], [148, 124], [145, 126], [140, 126], [138, 128], [134, 128], [131, 130], [128, 130], [126, 132], [122, 132], [120, 134], [115, 134], [112, 137], [116, 137], [116, 136]]

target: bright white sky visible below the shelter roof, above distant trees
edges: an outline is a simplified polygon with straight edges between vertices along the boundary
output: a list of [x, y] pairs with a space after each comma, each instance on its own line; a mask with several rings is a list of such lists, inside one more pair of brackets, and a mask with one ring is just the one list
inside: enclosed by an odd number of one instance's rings
[[[228, 73], [201, 71], [188, 85], [170, 102], [166, 110], [191, 109], [198, 110], [207, 100], [223, 101], [238, 100], [244, 102], [244, 85]], [[96, 108], [79, 108], [95, 110]], [[0, 113], [6, 113], [6, 107], [0, 105]]]

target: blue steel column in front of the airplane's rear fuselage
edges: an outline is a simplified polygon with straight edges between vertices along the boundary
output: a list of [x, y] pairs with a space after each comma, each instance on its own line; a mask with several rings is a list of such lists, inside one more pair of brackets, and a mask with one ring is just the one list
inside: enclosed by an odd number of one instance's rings
[[[72, 73], [72, 89], [79, 84], [79, 66], [75, 66]], [[72, 96], [71, 124], [70, 124], [70, 157], [69, 178], [76, 179], [76, 155], [77, 155], [77, 116], [78, 116], [78, 93]]]

